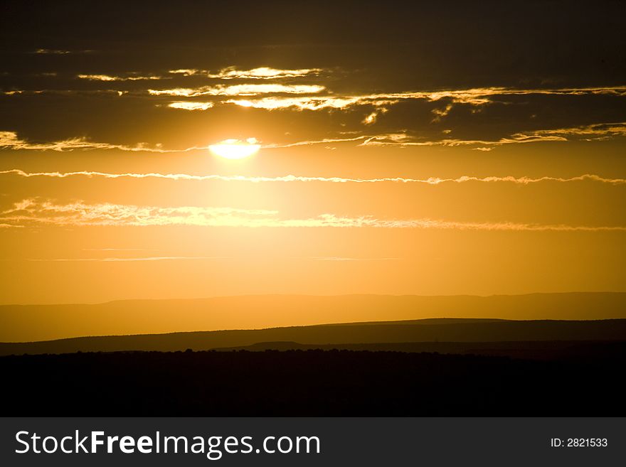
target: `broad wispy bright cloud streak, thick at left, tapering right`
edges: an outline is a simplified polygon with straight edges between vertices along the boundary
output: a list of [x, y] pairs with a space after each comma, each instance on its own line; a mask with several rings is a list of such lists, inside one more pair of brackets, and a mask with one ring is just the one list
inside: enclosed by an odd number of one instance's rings
[[378, 219], [373, 216], [337, 216], [330, 213], [314, 218], [280, 218], [275, 210], [245, 210], [198, 206], [161, 207], [87, 204], [76, 201], [67, 204], [25, 199], [0, 214], [0, 221], [9, 225], [52, 225], [58, 227], [84, 226], [195, 226], [195, 227], [342, 227], [489, 230], [528, 232], [626, 232], [626, 226], [591, 226], [566, 224], [530, 224], [521, 222], [457, 222], [450, 220]]

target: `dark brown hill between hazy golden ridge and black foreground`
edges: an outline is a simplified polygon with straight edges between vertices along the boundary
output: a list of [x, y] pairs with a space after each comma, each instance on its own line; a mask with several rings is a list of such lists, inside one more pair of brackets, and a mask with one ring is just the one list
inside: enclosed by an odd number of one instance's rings
[[[118, 350], [211, 350], [262, 345], [265, 348], [341, 348], [354, 345], [359, 350], [407, 350], [397, 345], [428, 343], [408, 351], [441, 351], [471, 353], [472, 349], [501, 349], [494, 343], [518, 342], [509, 345], [509, 353], [488, 352], [489, 355], [509, 355], [529, 348], [529, 342], [543, 341], [620, 341], [626, 340], [626, 319], [600, 321], [506, 321], [489, 319], [428, 319], [383, 323], [346, 323], [320, 326], [299, 326], [258, 330], [203, 331], [138, 336], [100, 336], [50, 340], [34, 343], [0, 343], [0, 355], [22, 353], [73, 353], [83, 351], [112, 352]], [[267, 345], [267, 343], [275, 343]], [[276, 344], [279, 343], [279, 344]], [[286, 344], [285, 344], [286, 343]], [[454, 345], [452, 343], [455, 343]], [[461, 343], [472, 343], [462, 345]], [[477, 345], [479, 343], [479, 345]], [[523, 343], [523, 345], [521, 345]], [[391, 348], [375, 348], [387, 345]], [[393, 345], [396, 345], [394, 348]], [[530, 345], [533, 348], [533, 345]], [[537, 345], [534, 345], [537, 350]], [[506, 350], [506, 345], [504, 345]], [[516, 350], [517, 349], [517, 350]], [[253, 349], [254, 350], [254, 349]], [[527, 356], [527, 355], [526, 355]]]

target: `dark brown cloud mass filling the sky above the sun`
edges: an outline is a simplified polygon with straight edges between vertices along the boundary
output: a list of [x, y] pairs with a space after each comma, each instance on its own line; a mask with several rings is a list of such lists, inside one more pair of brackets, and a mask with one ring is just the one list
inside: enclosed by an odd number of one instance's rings
[[[9, 94], [0, 95], [0, 131], [28, 141], [190, 147], [232, 131], [233, 121], [266, 144], [398, 132], [498, 141], [626, 121], [626, 91], [571, 90], [626, 84], [620, 1], [7, 1], [3, 13], [0, 90]], [[263, 82], [323, 89], [206, 92], [259, 85], [249, 73], [224, 79], [220, 70], [261, 66], [315, 69]], [[199, 71], [171, 73], [179, 69]], [[478, 96], [487, 102], [393, 97], [477, 87], [530, 92], [487, 90]], [[179, 88], [202, 95], [149, 94]], [[223, 103], [269, 95], [319, 100], [274, 110]]]

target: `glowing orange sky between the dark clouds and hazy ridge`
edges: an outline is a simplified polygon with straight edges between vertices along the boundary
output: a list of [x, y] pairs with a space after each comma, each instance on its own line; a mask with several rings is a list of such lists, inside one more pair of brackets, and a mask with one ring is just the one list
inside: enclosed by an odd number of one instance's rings
[[[496, 151], [502, 158], [524, 158], [574, 145], [537, 143]], [[608, 146], [605, 141], [587, 145]], [[575, 176], [558, 167], [546, 167], [541, 175], [539, 168], [526, 173], [490, 168], [499, 161], [464, 173], [432, 161], [476, 154], [467, 148], [393, 149], [396, 154], [346, 144], [336, 148], [261, 149], [243, 161], [218, 161], [206, 150], [157, 161], [135, 154], [98, 161], [94, 154], [91, 163], [71, 153], [63, 171], [360, 178], [373, 176], [373, 167], [351, 170], [347, 162], [378, 157], [377, 178], [400, 176], [401, 158], [408, 159], [402, 176], [420, 180], [461, 174]], [[44, 159], [67, 157], [49, 151], [38, 156], [44, 166], [38, 170], [44, 172], [51, 170]], [[127, 157], [134, 159], [131, 172], [123, 163]], [[396, 170], [387, 157], [396, 158]], [[410, 159], [431, 159], [430, 167], [420, 169]], [[7, 225], [0, 232], [4, 303], [250, 293], [623, 290], [623, 181], [1, 177]]]

